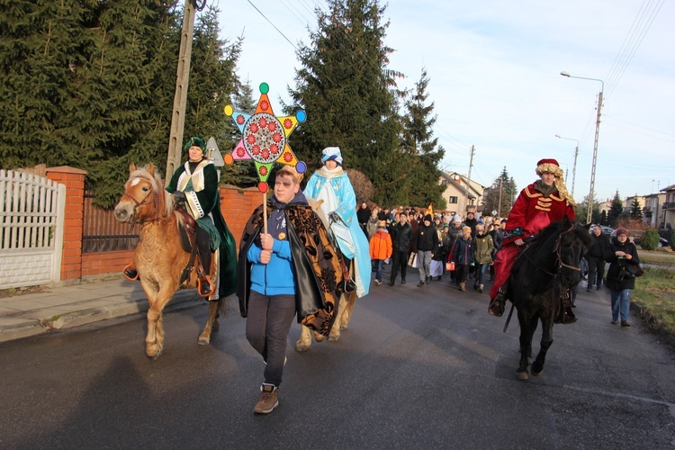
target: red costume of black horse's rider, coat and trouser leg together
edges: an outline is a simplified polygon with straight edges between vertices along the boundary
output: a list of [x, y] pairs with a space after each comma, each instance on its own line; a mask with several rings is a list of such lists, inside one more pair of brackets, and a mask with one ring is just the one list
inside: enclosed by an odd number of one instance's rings
[[556, 220], [575, 219], [574, 208], [572, 204], [563, 199], [557, 189], [548, 196], [544, 196], [535, 189], [536, 183], [528, 185], [520, 191], [518, 199], [509, 212], [507, 220], [507, 234], [513, 233], [515, 229], [522, 229], [522, 235], [504, 238], [502, 247], [497, 253], [494, 262], [495, 281], [490, 290], [490, 297], [494, 299], [500, 287], [506, 283], [511, 275], [511, 267], [520, 252], [519, 246], [514, 244], [518, 238], [525, 239], [535, 236], [541, 229]]

